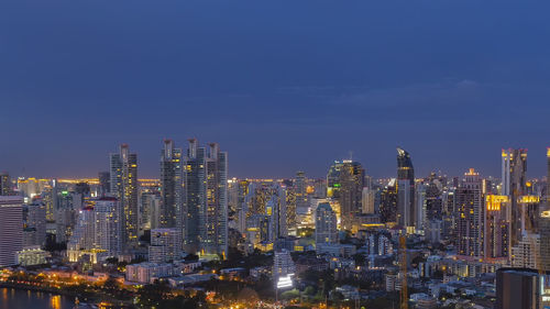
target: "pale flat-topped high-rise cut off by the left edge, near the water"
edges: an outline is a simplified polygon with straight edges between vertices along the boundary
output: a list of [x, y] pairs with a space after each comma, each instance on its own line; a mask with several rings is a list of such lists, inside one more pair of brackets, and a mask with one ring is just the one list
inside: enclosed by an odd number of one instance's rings
[[0, 196], [0, 267], [18, 264], [16, 252], [23, 249], [23, 200]]

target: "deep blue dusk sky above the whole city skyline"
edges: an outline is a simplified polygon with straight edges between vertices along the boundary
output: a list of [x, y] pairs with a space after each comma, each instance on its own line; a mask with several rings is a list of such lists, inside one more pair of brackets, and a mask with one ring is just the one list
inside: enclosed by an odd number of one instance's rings
[[550, 2], [0, 2], [0, 169], [96, 176], [120, 143], [219, 142], [230, 175], [323, 176], [349, 157], [417, 176], [501, 173], [550, 145]]

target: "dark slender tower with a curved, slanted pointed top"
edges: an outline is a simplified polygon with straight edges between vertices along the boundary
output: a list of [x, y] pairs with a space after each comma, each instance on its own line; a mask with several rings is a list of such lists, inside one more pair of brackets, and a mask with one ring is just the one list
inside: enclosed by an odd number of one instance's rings
[[397, 223], [402, 228], [415, 224], [415, 168], [409, 153], [397, 148]]

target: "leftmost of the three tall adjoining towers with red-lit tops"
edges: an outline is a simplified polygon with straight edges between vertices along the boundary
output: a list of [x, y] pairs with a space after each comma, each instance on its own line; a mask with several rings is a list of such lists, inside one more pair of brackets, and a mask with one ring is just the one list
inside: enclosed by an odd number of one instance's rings
[[182, 150], [164, 140], [161, 154], [161, 227], [183, 232], [183, 162]]

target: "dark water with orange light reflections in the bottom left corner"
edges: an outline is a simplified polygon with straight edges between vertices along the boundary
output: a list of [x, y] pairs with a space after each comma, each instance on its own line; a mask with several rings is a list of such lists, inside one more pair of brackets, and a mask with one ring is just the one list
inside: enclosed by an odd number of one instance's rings
[[70, 309], [70, 297], [43, 291], [0, 288], [0, 309]]

